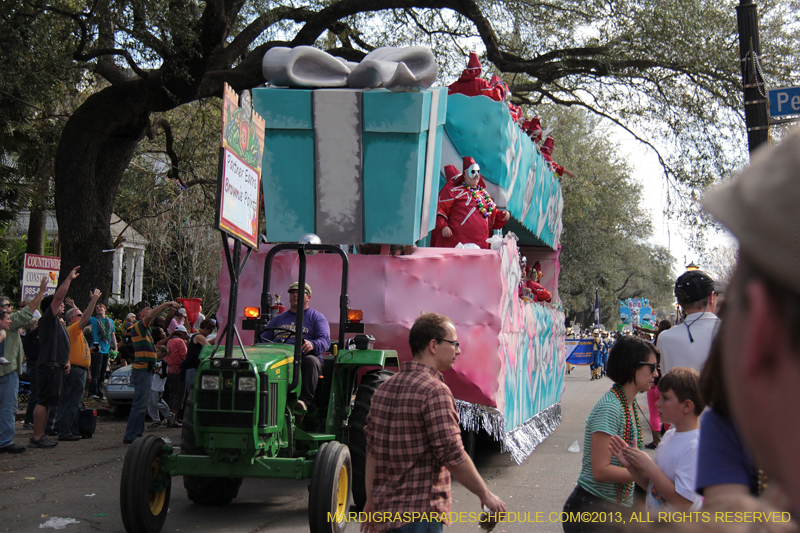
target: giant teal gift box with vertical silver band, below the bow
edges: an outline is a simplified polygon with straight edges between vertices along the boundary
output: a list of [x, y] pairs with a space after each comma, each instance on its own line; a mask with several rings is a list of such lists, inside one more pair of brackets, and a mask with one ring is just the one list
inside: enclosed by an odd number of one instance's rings
[[414, 244], [435, 226], [447, 89], [253, 89], [270, 242]]

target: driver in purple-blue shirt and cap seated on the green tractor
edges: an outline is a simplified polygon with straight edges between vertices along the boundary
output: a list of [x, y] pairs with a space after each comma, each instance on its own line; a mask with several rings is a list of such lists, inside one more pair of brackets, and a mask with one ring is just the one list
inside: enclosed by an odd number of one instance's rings
[[[289, 285], [289, 310], [270, 320], [267, 324], [268, 328], [280, 327], [295, 331], [300, 300], [298, 287], [297, 282]], [[307, 411], [314, 400], [314, 391], [317, 388], [319, 375], [322, 373], [322, 354], [331, 345], [331, 328], [328, 325], [328, 319], [316, 309], [311, 309], [308, 306], [310, 301], [311, 287], [306, 283], [306, 290], [303, 294], [303, 385], [296, 406], [299, 411]], [[295, 334], [286, 330], [268, 329], [261, 334], [261, 340], [294, 344]]]

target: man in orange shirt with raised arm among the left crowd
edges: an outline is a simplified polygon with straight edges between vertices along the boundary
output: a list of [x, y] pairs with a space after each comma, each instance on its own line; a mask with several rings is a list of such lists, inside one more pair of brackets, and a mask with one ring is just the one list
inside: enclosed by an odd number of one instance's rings
[[64, 391], [61, 396], [61, 405], [56, 415], [56, 430], [58, 440], [74, 441], [81, 440], [78, 430], [78, 415], [80, 414], [83, 401], [83, 391], [86, 388], [86, 380], [92, 379], [89, 368], [92, 366], [92, 355], [86, 338], [83, 336], [83, 328], [89, 325], [89, 319], [94, 313], [94, 306], [100, 298], [100, 290], [95, 289], [90, 293], [89, 305], [81, 313], [77, 307], [73, 307], [64, 314], [67, 322], [67, 334], [69, 335], [69, 364], [70, 371], [64, 376]]

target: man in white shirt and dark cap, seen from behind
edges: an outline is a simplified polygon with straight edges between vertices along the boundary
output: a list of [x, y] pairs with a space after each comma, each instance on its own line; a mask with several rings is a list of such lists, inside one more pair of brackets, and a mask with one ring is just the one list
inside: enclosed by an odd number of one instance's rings
[[700, 372], [719, 326], [714, 280], [702, 270], [684, 272], [675, 281], [675, 297], [686, 318], [658, 336], [661, 371], [685, 366]]

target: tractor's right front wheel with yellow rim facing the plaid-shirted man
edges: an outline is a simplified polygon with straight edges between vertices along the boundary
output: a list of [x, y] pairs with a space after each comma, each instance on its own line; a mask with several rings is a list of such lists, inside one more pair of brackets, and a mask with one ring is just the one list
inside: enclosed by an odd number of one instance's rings
[[350, 450], [341, 442], [323, 444], [314, 461], [308, 498], [311, 533], [342, 533], [347, 527], [353, 481]]

